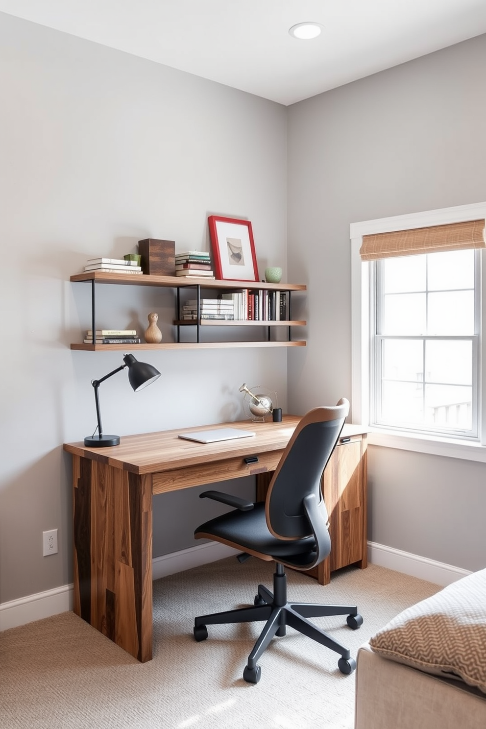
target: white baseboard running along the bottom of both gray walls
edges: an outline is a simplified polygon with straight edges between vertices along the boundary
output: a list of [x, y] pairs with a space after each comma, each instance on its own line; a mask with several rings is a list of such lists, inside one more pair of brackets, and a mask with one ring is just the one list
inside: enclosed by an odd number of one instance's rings
[[[184, 572], [186, 569], [209, 564], [236, 554], [238, 554], [238, 550], [232, 549], [232, 547], [221, 545], [218, 542], [204, 542], [180, 552], [155, 557], [152, 560], [153, 579], [160, 580], [160, 577]], [[467, 569], [460, 569], [460, 567], [436, 562], [416, 554], [378, 545], [375, 542], [368, 542], [368, 560], [372, 564], [388, 567], [396, 572], [403, 572], [411, 577], [428, 580], [428, 582], [434, 582], [443, 587], [470, 574]], [[0, 631], [15, 628], [17, 625], [26, 625], [33, 620], [41, 620], [43, 617], [58, 615], [59, 612], [72, 609], [73, 585], [63, 585], [54, 590], [4, 602], [0, 604]]]

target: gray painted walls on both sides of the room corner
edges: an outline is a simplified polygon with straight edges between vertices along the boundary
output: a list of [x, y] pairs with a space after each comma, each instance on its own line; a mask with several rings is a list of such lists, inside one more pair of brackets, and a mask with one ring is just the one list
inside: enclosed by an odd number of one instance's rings
[[[147, 351], [157, 383], [135, 395], [121, 373], [102, 386], [109, 432], [238, 418], [243, 381], [294, 413], [350, 397], [350, 222], [485, 199], [486, 36], [289, 109], [1, 14], [0, 61], [1, 603], [72, 580], [61, 444], [93, 432], [90, 381], [120, 362], [69, 349], [90, 321], [69, 276], [149, 236], [208, 249], [214, 213], [252, 221], [260, 272], [281, 264], [309, 285], [296, 311], [307, 348]], [[106, 326], [142, 330], [149, 311], [171, 320], [173, 295], [106, 286], [100, 308]], [[485, 473], [370, 448], [369, 538], [484, 566]], [[155, 556], [194, 543], [201, 504], [197, 489], [154, 499]], [[55, 527], [59, 553], [42, 558]]]

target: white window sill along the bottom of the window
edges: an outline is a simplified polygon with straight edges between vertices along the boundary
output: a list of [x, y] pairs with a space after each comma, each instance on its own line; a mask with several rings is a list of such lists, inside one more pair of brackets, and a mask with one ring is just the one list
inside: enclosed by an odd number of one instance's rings
[[429, 453], [431, 456], [446, 456], [447, 458], [486, 463], [486, 446], [477, 441], [466, 443], [463, 440], [451, 440], [432, 435], [372, 429], [368, 432], [368, 443], [369, 445], [379, 445], [382, 448], [398, 448], [400, 451], [415, 451], [415, 453]]

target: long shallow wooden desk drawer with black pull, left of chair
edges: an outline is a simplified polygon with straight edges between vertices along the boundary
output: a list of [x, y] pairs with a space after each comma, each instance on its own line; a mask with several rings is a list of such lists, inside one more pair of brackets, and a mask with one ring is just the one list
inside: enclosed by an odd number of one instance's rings
[[[238, 456], [238, 458], [225, 459], [224, 461], [153, 473], [152, 494], [163, 494], [165, 491], [178, 491], [179, 488], [203, 486], [205, 483], [217, 483], [230, 478], [254, 476], [258, 473], [275, 471], [282, 453], [283, 450], [262, 453], [262, 455], [256, 453], [258, 462], [251, 464], [246, 464], [244, 459]], [[253, 455], [251, 453], [251, 456]]]

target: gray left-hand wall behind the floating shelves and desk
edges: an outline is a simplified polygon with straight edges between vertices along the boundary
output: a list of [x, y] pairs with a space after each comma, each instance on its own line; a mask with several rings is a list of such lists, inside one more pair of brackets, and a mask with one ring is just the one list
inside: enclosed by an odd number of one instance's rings
[[[0, 15], [0, 602], [72, 581], [71, 458], [95, 428], [90, 381], [121, 353], [77, 352], [89, 257], [141, 238], [209, 250], [209, 214], [247, 217], [259, 270], [286, 279], [286, 109], [133, 55]], [[144, 331], [171, 321], [171, 290], [104, 286], [98, 323]], [[173, 327], [161, 326], [165, 340]], [[143, 355], [143, 356], [142, 356]], [[243, 417], [240, 384], [276, 389], [286, 410], [287, 351], [144, 351], [162, 373], [134, 394], [126, 373], [100, 389], [106, 432], [130, 434]], [[254, 483], [235, 482], [245, 495]], [[209, 518], [197, 490], [154, 499], [154, 555], [195, 545]], [[59, 553], [42, 557], [42, 531]]]

